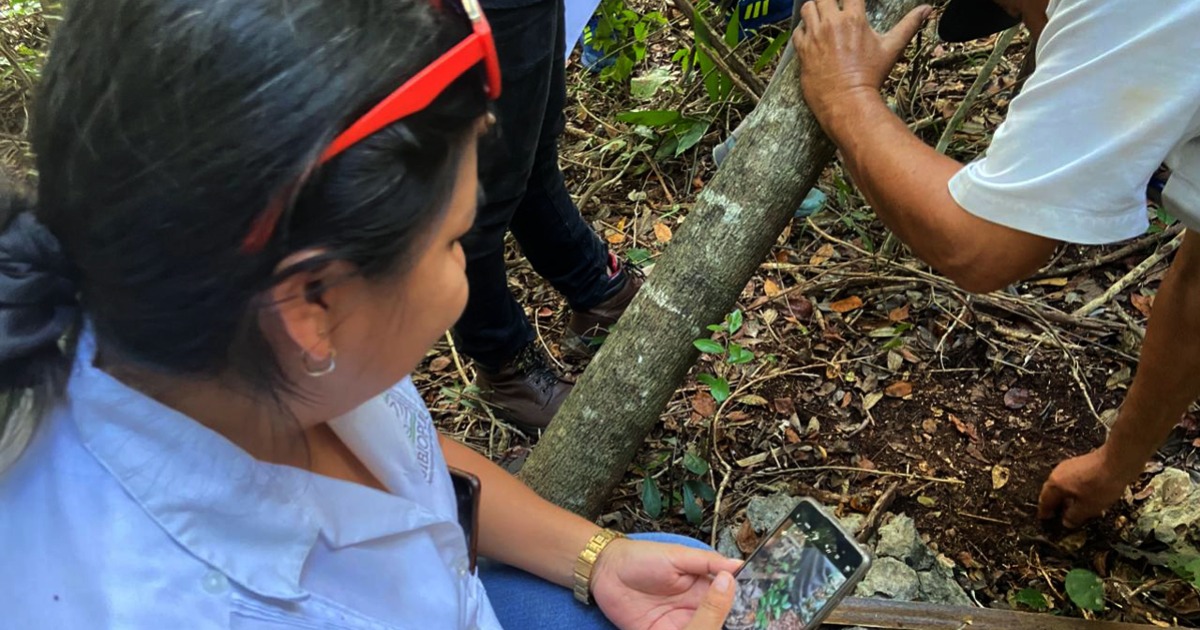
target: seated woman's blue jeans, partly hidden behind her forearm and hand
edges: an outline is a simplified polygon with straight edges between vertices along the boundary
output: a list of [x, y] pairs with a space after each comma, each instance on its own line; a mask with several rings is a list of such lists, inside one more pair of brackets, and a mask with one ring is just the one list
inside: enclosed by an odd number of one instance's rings
[[[653, 542], [673, 542], [710, 550], [708, 545], [676, 534], [632, 534], [629, 538]], [[572, 630], [611, 630], [613, 625], [595, 606], [575, 601], [570, 589], [552, 584], [521, 569], [481, 562], [479, 578], [487, 589], [496, 617], [506, 630], [570, 628]]]

